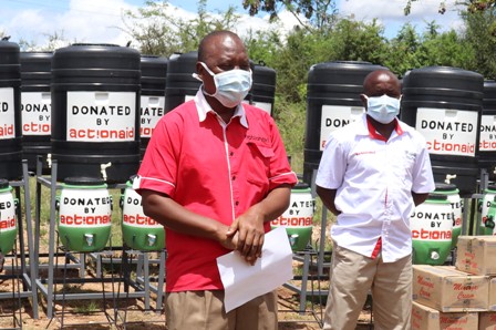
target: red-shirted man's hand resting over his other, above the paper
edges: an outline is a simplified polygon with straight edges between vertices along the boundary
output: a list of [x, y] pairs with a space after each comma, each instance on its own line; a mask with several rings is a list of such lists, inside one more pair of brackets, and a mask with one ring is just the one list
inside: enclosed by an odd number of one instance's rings
[[264, 217], [256, 212], [256, 208], [250, 208], [230, 225], [227, 236], [234, 237], [237, 234], [236, 250], [248, 264], [255, 265], [257, 258], [261, 257], [265, 239]]

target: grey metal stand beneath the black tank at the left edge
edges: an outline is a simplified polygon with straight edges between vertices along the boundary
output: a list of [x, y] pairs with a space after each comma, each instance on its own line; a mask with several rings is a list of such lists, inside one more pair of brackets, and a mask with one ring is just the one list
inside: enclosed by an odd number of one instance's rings
[[[28, 161], [22, 161], [22, 179], [14, 181], [10, 183], [10, 186], [14, 188], [16, 197], [19, 200], [19, 206], [17, 208], [17, 223], [18, 223], [18, 234], [19, 238], [16, 243], [19, 246], [19, 249], [14, 249], [12, 256], [6, 256], [7, 258], [12, 257], [13, 262], [12, 266], [4, 266], [3, 271], [11, 272], [10, 275], [1, 275], [0, 279], [10, 278], [14, 282], [17, 280], [18, 291], [14, 292], [1, 292], [0, 299], [21, 299], [21, 298], [31, 298], [32, 300], [32, 310], [33, 318], [38, 319], [38, 292], [37, 286], [34, 283], [35, 279], [35, 268], [37, 268], [37, 258], [33, 252], [33, 235], [32, 235], [32, 218], [31, 218], [31, 200], [30, 200], [30, 188], [29, 188], [29, 173], [28, 173]], [[21, 187], [24, 189], [23, 198], [21, 198]], [[24, 200], [24, 210], [25, 210], [25, 228], [22, 221], [22, 203]], [[25, 243], [24, 243], [24, 230], [27, 234], [27, 243], [28, 243], [28, 256], [29, 256], [29, 265], [27, 265], [27, 256], [25, 256]], [[17, 252], [19, 251], [19, 254]], [[20, 266], [17, 264], [18, 259], [20, 260]], [[22, 290], [20, 288], [20, 282], [22, 282]]]

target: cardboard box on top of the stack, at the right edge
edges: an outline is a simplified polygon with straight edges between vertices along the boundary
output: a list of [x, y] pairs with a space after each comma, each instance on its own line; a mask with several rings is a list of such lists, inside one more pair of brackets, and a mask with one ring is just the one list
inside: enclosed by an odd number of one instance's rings
[[458, 236], [456, 269], [496, 275], [496, 236]]

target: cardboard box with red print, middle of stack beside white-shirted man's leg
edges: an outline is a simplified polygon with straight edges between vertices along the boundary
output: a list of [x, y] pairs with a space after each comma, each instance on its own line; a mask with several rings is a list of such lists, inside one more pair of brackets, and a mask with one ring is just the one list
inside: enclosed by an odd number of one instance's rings
[[487, 311], [489, 277], [450, 266], [413, 266], [413, 300], [442, 312]]

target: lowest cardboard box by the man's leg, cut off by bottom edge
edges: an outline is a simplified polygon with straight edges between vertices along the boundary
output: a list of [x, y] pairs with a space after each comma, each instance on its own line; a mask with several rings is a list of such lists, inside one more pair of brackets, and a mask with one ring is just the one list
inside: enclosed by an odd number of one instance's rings
[[440, 312], [413, 302], [412, 330], [474, 330], [478, 327], [477, 312]]

